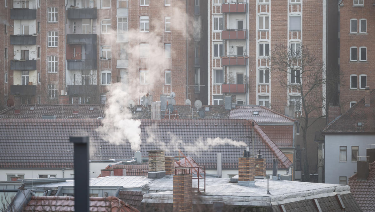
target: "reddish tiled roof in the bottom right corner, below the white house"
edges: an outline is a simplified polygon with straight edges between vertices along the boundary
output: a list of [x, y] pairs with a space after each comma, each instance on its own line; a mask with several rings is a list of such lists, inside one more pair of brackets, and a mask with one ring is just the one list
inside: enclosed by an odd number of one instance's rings
[[357, 174], [349, 177], [350, 192], [364, 212], [375, 211], [375, 162], [369, 164], [367, 180], [357, 180]]

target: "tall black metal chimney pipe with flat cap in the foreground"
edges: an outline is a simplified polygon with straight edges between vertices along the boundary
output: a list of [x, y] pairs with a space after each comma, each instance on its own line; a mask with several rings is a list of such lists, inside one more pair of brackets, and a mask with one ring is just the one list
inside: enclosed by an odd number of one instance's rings
[[70, 137], [74, 143], [74, 211], [89, 212], [89, 137]]

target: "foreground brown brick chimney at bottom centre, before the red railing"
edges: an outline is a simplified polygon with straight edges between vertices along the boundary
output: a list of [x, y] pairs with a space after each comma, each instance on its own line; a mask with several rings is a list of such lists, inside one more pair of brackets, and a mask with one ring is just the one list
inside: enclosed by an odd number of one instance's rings
[[190, 212], [192, 209], [192, 175], [191, 173], [173, 176], [173, 212]]

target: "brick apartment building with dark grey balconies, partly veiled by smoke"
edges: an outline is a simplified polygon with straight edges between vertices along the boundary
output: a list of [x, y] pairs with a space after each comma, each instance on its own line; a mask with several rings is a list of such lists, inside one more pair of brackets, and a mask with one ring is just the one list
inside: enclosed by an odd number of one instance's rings
[[[81, 104], [103, 103], [116, 82], [144, 88], [153, 101], [171, 91], [180, 105], [206, 99], [206, 7], [199, 0], [5, 0], [0, 109], [13, 104], [15, 93], [29, 104], [55, 104], [74, 93]], [[163, 51], [156, 68], [148, 54], [154, 46]]]

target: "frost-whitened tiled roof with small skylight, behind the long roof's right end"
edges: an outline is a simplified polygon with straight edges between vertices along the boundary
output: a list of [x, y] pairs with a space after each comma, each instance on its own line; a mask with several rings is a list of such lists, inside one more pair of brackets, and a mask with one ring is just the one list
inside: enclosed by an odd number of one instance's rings
[[[259, 111], [258, 115], [254, 115], [254, 111]], [[295, 122], [284, 114], [261, 105], [237, 105], [229, 114], [229, 119], [253, 119], [257, 123], [285, 123]]]

